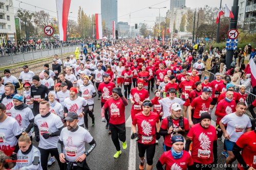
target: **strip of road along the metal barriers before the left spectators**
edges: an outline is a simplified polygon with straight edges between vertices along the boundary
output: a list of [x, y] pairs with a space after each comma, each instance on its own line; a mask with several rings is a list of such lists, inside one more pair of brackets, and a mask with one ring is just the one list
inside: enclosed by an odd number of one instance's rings
[[[78, 45], [80, 49], [80, 45]], [[68, 46], [62, 48], [62, 53], [75, 52], [76, 46]], [[54, 54], [60, 55], [60, 48], [41, 50], [36, 52], [28, 52], [23, 54], [5, 55], [0, 56], [0, 66], [14, 64], [23, 61], [30, 61], [38, 58], [53, 56]]]

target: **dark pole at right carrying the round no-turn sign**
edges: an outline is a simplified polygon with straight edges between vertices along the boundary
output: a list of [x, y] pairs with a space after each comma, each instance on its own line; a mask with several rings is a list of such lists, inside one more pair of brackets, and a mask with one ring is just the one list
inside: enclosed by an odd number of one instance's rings
[[[239, 10], [238, 0], [233, 0], [233, 6], [231, 8], [231, 11], [232, 11], [232, 13], [234, 15], [234, 18], [233, 19], [230, 18], [229, 30], [230, 29], [237, 29], [238, 10]], [[227, 50], [227, 54], [226, 54], [226, 66], [227, 66], [227, 69], [230, 68], [230, 65], [231, 65], [232, 59], [233, 59], [233, 54], [234, 54], [233, 50]]]

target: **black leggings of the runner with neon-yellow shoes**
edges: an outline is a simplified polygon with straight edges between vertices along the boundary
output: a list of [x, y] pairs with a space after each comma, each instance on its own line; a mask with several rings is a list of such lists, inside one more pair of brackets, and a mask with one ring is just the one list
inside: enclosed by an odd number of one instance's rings
[[119, 140], [121, 140], [122, 142], [126, 141], [125, 123], [119, 124], [119, 125], [110, 124], [110, 130], [111, 130], [111, 138], [116, 147], [116, 150], [120, 151], [121, 148], [120, 148]]

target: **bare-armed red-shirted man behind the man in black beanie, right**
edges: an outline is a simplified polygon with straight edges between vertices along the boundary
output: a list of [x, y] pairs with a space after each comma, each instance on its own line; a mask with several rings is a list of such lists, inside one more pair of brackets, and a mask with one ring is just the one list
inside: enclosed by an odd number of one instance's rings
[[[200, 123], [200, 115], [203, 112], [209, 112], [209, 107], [212, 99], [210, 98], [210, 89], [204, 88], [202, 90], [202, 95], [198, 96], [194, 101], [191, 102], [190, 106], [188, 107], [187, 113], [188, 113], [188, 119], [189, 119], [189, 125], [192, 127], [195, 124]], [[192, 119], [192, 113], [191, 110], [194, 110], [194, 115]]]

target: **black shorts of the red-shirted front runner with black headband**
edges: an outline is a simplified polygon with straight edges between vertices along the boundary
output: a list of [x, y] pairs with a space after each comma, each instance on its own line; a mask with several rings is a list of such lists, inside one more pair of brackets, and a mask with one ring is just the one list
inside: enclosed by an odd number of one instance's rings
[[139, 157], [143, 158], [146, 152], [146, 162], [148, 165], [153, 165], [153, 158], [156, 151], [156, 143], [142, 144], [138, 142]]

